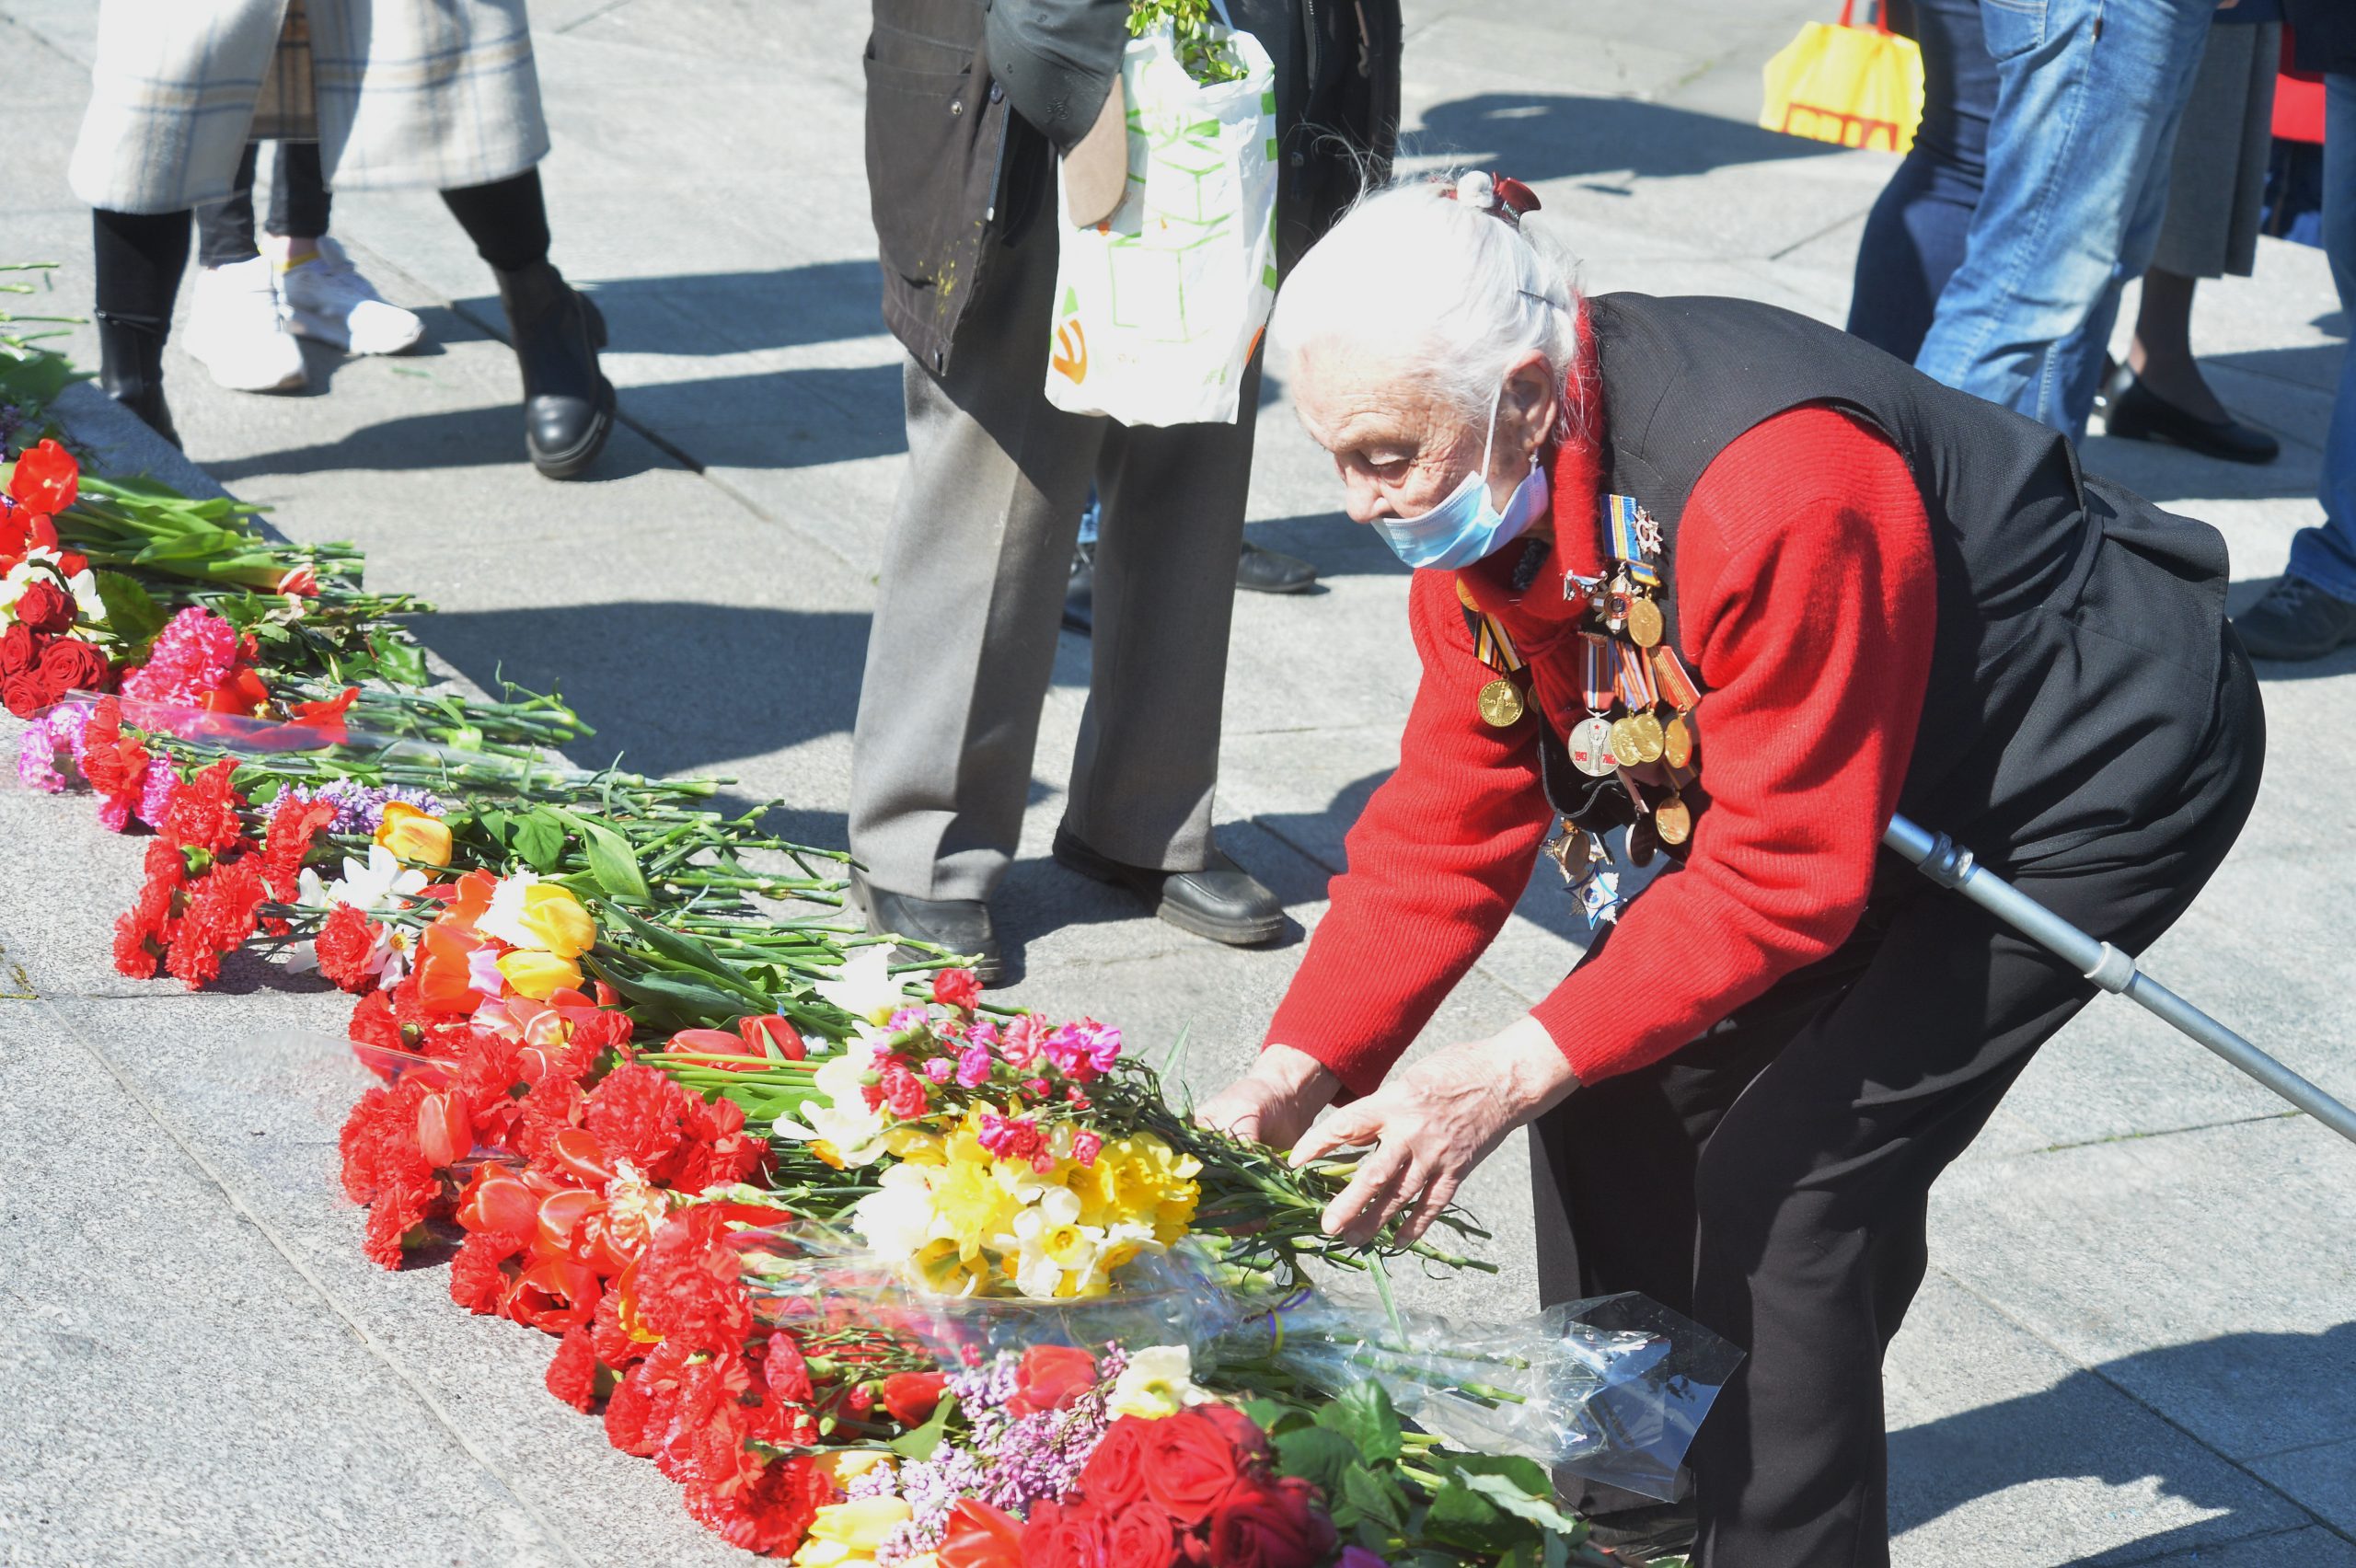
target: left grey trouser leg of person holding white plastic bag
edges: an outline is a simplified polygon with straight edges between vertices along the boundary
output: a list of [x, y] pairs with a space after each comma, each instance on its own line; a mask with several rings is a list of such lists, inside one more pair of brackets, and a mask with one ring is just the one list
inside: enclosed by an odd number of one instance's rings
[[924, 902], [990, 899], [1013, 862], [1103, 431], [1041, 388], [1053, 224], [992, 245], [978, 287], [949, 372], [905, 367], [907, 473], [851, 737], [851, 852], [872, 888]]

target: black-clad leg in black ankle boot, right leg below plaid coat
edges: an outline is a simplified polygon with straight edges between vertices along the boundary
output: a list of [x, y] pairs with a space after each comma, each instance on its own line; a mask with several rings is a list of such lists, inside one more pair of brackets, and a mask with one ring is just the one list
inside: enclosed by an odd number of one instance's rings
[[523, 370], [523, 450], [544, 476], [573, 478], [605, 450], [615, 396], [598, 367], [605, 318], [549, 266], [540, 170], [443, 191], [443, 205], [499, 278], [499, 306]]

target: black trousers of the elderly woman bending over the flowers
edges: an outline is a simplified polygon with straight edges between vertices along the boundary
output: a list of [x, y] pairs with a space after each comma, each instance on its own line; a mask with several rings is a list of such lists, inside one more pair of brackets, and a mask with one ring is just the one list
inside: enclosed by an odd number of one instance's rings
[[[2005, 866], [2130, 954], [2184, 913], [2257, 798], [2264, 713], [2224, 643], [2182, 779], [2116, 833]], [[1925, 826], [1981, 848], [1970, 822]], [[1882, 1354], [1927, 1269], [1930, 1187], [2094, 996], [1887, 852], [1875, 888], [1831, 958], [1534, 1128], [1543, 1300], [1642, 1290], [1748, 1351], [1692, 1455], [1706, 1568], [1887, 1566]]]

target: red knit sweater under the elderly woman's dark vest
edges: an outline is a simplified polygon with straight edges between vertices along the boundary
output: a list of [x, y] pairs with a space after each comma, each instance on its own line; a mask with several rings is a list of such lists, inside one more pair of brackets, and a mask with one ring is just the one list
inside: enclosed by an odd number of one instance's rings
[[[1494, 673], [1472, 655], [1456, 582], [1534, 669], [1562, 735], [1586, 713], [1576, 605], [1562, 572], [1597, 572], [1593, 445], [1553, 464], [1555, 551], [1515, 596], [1515, 549], [1461, 574], [1416, 572], [1409, 624], [1423, 683], [1399, 770], [1348, 838], [1270, 1043], [1310, 1052], [1364, 1095], [1505, 923], [1553, 812], [1536, 730], [1482, 723]], [[1640, 501], [1644, 497], [1637, 497]], [[1682, 871], [1633, 899], [1612, 944], [1531, 1015], [1581, 1083], [1656, 1062], [1857, 925], [1913, 749], [1934, 631], [1922, 497], [1899, 452], [1828, 407], [1751, 428], [1703, 471], [1677, 527], [1680, 643], [1708, 690]]]

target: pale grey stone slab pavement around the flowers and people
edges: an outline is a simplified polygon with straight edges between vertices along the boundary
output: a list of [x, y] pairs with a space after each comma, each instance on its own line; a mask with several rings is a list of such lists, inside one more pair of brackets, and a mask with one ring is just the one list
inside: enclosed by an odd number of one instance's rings
[[[1593, 290], [1734, 292], [1840, 320], [1890, 158], [1748, 125], [1805, 0], [1409, 0], [1414, 146], [1531, 179]], [[57, 259], [87, 311], [64, 186], [90, 0], [0, 0], [0, 257]], [[587, 483], [518, 461], [490, 278], [426, 193], [353, 193], [337, 233], [431, 344], [313, 351], [313, 396], [212, 388], [179, 351], [188, 454], [297, 537], [353, 539], [443, 605], [474, 680], [563, 683], [596, 749], [726, 772], [841, 841], [879, 527], [900, 469], [898, 351], [874, 301], [851, 0], [544, 0], [556, 261], [613, 323], [627, 428]], [[2318, 252], [2266, 242], [2203, 290], [2219, 393], [2285, 457], [2229, 469], [2087, 443], [2087, 466], [2208, 518], [2236, 603], [2314, 516], [2347, 323]], [[87, 330], [75, 351], [94, 363]], [[1275, 381], [1275, 379], [1272, 379]], [[87, 400], [82, 403], [87, 407]], [[97, 428], [97, 426], [82, 426]], [[1279, 384], [1251, 532], [1319, 593], [1237, 605], [1220, 838], [1296, 923], [1272, 951], [1138, 918], [1046, 859], [1086, 680], [1065, 636], [1001, 899], [1018, 1001], [1091, 1010], [1211, 1088], [1251, 1055], [1324, 909], [1341, 841], [1397, 760], [1414, 680], [1404, 572], [1350, 527]], [[2276, 746], [2236, 857], [2151, 968], [2356, 1097], [2347, 713], [2356, 659], [2269, 669]], [[584, 749], [584, 756], [589, 749]], [[137, 845], [0, 793], [0, 1563], [723, 1561], [676, 1490], [556, 1406], [547, 1347], [450, 1309], [438, 1269], [358, 1257], [332, 1140], [358, 1071], [332, 998], [259, 965], [188, 998], [106, 968]], [[1522, 911], [1425, 1043], [1489, 1031], [1581, 942]], [[2356, 1566], [2356, 1151], [2127, 1005], [2094, 1005], [1941, 1184], [1932, 1276], [1892, 1351], [1897, 1561]], [[1520, 1147], [1470, 1189], [1496, 1283], [1531, 1300]], [[365, 1542], [365, 1547], [360, 1544]]]

